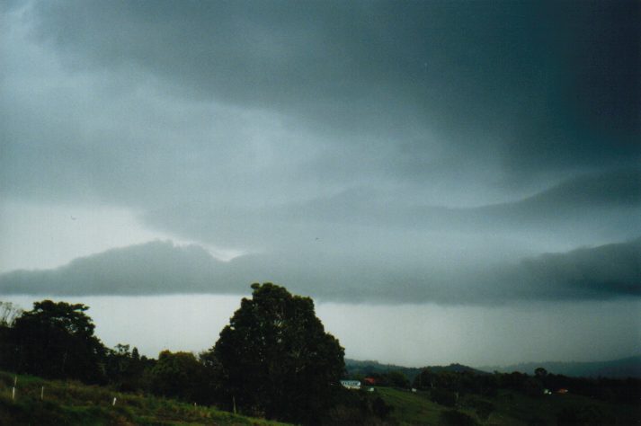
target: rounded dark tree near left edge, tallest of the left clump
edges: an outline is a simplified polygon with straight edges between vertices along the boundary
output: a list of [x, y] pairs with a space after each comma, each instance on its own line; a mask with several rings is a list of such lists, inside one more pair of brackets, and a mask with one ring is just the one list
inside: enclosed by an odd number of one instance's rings
[[40, 377], [104, 380], [105, 348], [93, 335], [88, 306], [43, 300], [19, 316], [12, 329], [19, 371]]

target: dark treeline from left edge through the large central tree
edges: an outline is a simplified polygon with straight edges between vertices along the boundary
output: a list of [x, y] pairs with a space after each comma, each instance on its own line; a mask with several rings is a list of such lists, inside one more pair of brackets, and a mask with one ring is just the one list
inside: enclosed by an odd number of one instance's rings
[[271, 283], [252, 288], [208, 351], [162, 351], [157, 359], [129, 344], [106, 347], [88, 306], [43, 300], [22, 312], [0, 302], [0, 369], [285, 422], [372, 424], [387, 416], [379, 398], [340, 385], [344, 350], [311, 298]]

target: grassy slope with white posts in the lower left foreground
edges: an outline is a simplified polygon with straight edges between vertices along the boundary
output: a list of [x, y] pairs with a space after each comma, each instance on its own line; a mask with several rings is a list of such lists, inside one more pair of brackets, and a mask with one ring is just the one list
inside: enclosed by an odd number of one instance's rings
[[[42, 386], [44, 395], [40, 399]], [[120, 394], [107, 387], [77, 382], [18, 376], [15, 399], [12, 398], [12, 387], [13, 375], [0, 372], [2, 425], [282, 424], [164, 398]]]

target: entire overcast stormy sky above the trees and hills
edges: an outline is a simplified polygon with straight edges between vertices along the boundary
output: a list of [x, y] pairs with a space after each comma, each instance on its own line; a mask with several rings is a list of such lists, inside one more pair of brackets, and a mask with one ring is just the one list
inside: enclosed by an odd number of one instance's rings
[[0, 297], [91, 300], [150, 355], [254, 281], [352, 357], [641, 351], [638, 2], [0, 13]]

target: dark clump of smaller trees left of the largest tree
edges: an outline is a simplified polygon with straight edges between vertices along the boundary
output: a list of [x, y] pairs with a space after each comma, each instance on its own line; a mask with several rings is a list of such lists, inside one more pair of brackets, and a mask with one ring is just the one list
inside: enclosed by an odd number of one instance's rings
[[[144, 391], [191, 399], [202, 363], [187, 352], [161, 352], [147, 358], [136, 347], [106, 347], [94, 335], [88, 306], [35, 302], [22, 312], [0, 302], [0, 368], [53, 379], [75, 379], [90, 385], [110, 385], [123, 392]], [[172, 373], [175, 377], [172, 377]], [[182, 378], [183, 380], [180, 380]], [[189, 386], [182, 382], [189, 381]], [[174, 387], [181, 387], [177, 391]], [[203, 394], [207, 394], [202, 392]]]

